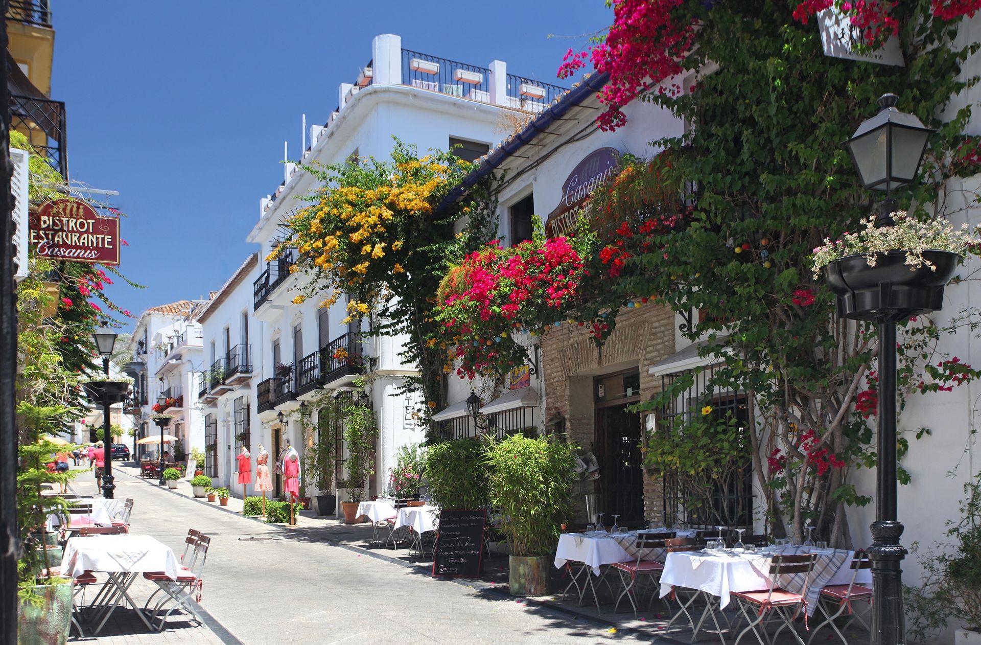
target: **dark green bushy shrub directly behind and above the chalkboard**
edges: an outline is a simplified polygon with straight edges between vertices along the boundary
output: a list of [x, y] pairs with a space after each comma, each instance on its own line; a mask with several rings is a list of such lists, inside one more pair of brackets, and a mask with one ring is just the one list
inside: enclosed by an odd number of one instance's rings
[[425, 471], [429, 493], [439, 508], [488, 506], [490, 469], [486, 448], [480, 441], [455, 439], [430, 446]]

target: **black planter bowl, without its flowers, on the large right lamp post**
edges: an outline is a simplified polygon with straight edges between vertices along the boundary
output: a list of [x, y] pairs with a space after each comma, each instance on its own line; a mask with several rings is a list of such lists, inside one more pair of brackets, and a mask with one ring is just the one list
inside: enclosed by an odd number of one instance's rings
[[927, 250], [923, 257], [936, 267], [910, 270], [905, 251], [880, 253], [875, 266], [862, 255], [848, 255], [824, 267], [828, 288], [837, 296], [838, 315], [852, 320], [896, 320], [939, 310], [944, 287], [960, 256], [950, 251]]

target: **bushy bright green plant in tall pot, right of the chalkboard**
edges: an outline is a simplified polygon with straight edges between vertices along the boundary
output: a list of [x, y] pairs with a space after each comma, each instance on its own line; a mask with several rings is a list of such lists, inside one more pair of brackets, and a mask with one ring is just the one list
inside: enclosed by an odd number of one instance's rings
[[548, 593], [550, 557], [571, 514], [574, 444], [554, 437], [514, 435], [488, 446], [490, 504], [501, 510], [501, 532], [511, 548], [512, 596]]

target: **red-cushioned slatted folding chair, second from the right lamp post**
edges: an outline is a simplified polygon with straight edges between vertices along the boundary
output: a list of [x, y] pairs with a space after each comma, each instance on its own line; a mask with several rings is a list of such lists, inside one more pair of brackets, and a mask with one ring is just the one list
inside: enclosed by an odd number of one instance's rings
[[[743, 639], [743, 636], [747, 632], [752, 631], [756, 640], [759, 641], [759, 645], [766, 645], [769, 642], [774, 642], [780, 632], [783, 631], [784, 627], [790, 627], [791, 633], [797, 639], [800, 645], [805, 645], [803, 640], [800, 638], [797, 630], [794, 629], [794, 620], [797, 618], [798, 613], [801, 609], [806, 610], [807, 608], [807, 575], [810, 573], [811, 569], [814, 568], [814, 563], [817, 562], [817, 554], [806, 554], [800, 556], [774, 556], [770, 563], [769, 578], [770, 586], [767, 589], [761, 589], [759, 591], [734, 591], [732, 593], [733, 598], [739, 602], [740, 611], [743, 613], [743, 617], [746, 618], [749, 623], [747, 627], [739, 633], [736, 637], [735, 645], [739, 645], [739, 642]], [[788, 591], [777, 585], [777, 577], [780, 575], [794, 575], [794, 574], [804, 574], [803, 589], [800, 593], [795, 593], [793, 591]], [[755, 618], [752, 615], [755, 614]], [[760, 634], [759, 630], [756, 629], [757, 625], [762, 622], [765, 618], [770, 618], [772, 616], [780, 618], [783, 622], [782, 625], [777, 629], [776, 633], [773, 634], [772, 638], [767, 637], [764, 641], [763, 636], [766, 635], [765, 632]]]

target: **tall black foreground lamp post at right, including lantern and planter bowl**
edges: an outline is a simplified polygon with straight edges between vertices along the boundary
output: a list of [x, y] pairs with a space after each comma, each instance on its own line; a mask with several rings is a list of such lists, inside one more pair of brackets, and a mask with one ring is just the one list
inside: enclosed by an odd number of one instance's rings
[[[919, 119], [896, 109], [898, 97], [879, 99], [880, 112], [862, 123], [845, 142], [865, 188], [885, 190], [877, 226], [892, 226], [894, 188], [913, 182], [931, 131]], [[940, 253], [939, 251], [928, 251]], [[934, 275], [910, 272], [902, 260], [869, 267], [861, 256], [842, 258], [826, 267], [829, 287], [838, 296], [838, 313], [853, 320], [874, 321], [879, 328], [878, 464], [876, 519], [872, 523], [872, 645], [905, 642], [903, 562], [900, 544], [903, 524], [897, 518], [896, 486], [896, 323], [917, 313], [940, 308], [944, 285], [954, 271], [953, 253], [943, 253]], [[954, 256], [954, 257], [946, 257]], [[889, 259], [888, 254], [884, 259]], [[943, 260], [943, 261], [941, 261]]]

